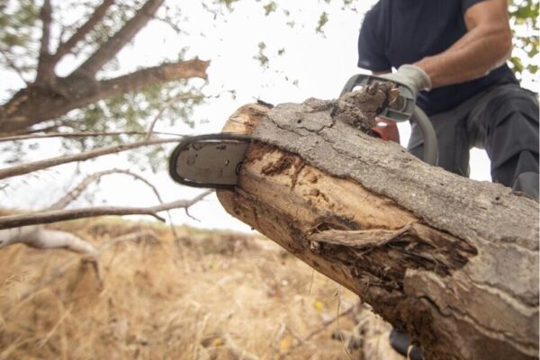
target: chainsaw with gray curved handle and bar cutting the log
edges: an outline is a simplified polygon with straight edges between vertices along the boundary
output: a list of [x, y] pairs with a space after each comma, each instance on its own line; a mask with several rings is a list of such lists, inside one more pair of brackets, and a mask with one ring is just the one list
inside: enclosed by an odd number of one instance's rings
[[[365, 74], [348, 79], [341, 95], [356, 87], [365, 87], [389, 80]], [[424, 161], [437, 166], [437, 137], [433, 125], [422, 110], [416, 106], [416, 99], [410, 87], [392, 81], [399, 90], [396, 101], [383, 109], [377, 118], [377, 125], [370, 131], [383, 140], [400, 142], [396, 123], [413, 120], [419, 126], [424, 138]], [[191, 136], [183, 139], [173, 150], [169, 159], [169, 174], [180, 184], [193, 187], [207, 187], [232, 190], [238, 183], [238, 173], [251, 143], [249, 135], [220, 132]]]

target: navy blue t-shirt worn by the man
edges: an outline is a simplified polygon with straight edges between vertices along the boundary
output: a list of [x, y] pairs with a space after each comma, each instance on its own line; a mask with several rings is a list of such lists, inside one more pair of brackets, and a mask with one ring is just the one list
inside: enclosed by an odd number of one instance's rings
[[[365, 14], [358, 67], [374, 72], [412, 64], [450, 48], [467, 31], [464, 14], [484, 0], [380, 0]], [[419, 94], [428, 115], [445, 112], [495, 83], [518, 83], [505, 64], [487, 76]]]

